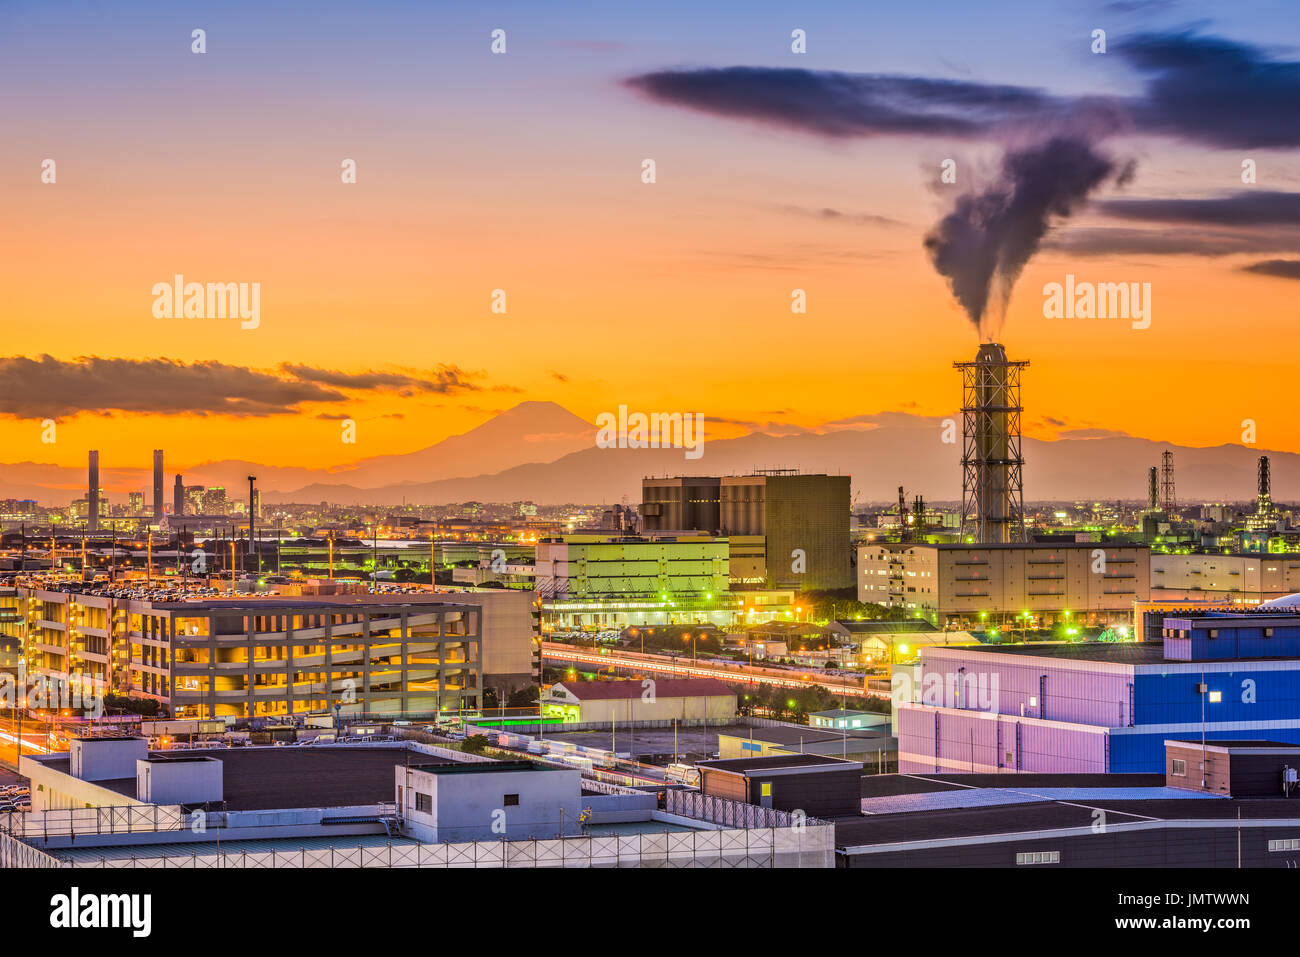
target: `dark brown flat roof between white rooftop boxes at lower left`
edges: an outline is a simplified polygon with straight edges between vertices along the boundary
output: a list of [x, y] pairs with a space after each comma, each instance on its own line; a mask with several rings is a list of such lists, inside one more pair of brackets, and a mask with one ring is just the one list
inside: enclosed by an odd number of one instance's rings
[[[221, 748], [195, 752], [222, 763], [228, 810], [341, 807], [391, 802], [393, 768], [410, 763], [429, 770], [438, 759], [406, 748], [312, 745], [311, 748]], [[151, 759], [191, 757], [185, 752], [150, 752]], [[69, 758], [44, 758], [52, 770], [69, 772]], [[452, 767], [465, 767], [445, 762]], [[135, 800], [135, 778], [95, 781]]]

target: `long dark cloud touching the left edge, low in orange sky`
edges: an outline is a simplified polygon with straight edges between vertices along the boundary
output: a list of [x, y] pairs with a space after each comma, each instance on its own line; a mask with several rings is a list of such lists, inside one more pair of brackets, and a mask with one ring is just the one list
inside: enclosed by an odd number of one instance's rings
[[265, 416], [344, 395], [318, 382], [281, 378], [218, 361], [0, 358], [0, 415], [57, 419], [78, 412]]

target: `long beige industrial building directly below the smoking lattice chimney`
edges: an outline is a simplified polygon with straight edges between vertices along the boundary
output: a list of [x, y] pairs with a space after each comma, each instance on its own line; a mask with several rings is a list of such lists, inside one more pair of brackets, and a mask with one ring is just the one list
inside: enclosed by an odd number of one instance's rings
[[1144, 545], [879, 542], [858, 547], [858, 601], [958, 628], [1127, 624], [1149, 559]]

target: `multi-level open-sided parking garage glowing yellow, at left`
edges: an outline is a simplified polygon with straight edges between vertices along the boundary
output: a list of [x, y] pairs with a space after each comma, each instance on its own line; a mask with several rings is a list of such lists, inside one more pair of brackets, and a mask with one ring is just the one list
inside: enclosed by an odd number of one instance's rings
[[433, 713], [482, 700], [484, 612], [462, 597], [151, 602], [10, 588], [4, 609], [0, 631], [18, 638], [27, 675], [153, 698], [178, 718]]

